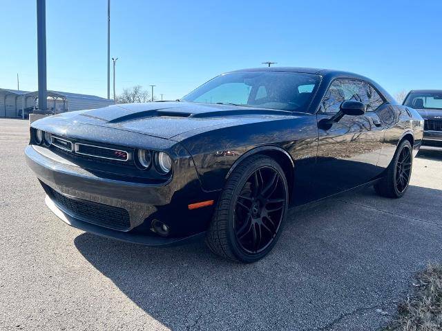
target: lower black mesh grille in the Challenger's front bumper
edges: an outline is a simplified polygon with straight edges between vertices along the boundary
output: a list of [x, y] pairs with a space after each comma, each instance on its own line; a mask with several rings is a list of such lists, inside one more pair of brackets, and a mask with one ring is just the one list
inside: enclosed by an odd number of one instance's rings
[[115, 230], [128, 230], [131, 227], [129, 213], [123, 208], [81, 199], [72, 199], [52, 188], [49, 189], [57, 205], [82, 221]]

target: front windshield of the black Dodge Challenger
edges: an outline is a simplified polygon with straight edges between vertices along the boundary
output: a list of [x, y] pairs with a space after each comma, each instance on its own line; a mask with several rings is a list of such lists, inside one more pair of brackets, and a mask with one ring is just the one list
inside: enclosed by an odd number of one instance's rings
[[319, 83], [316, 74], [233, 72], [215, 77], [181, 100], [307, 112]]

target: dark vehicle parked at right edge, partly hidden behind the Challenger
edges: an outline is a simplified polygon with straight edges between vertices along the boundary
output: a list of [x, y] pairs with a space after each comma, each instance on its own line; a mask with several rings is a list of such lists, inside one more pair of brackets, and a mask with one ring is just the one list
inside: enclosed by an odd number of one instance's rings
[[416, 109], [425, 121], [423, 150], [442, 150], [442, 90], [412, 90], [403, 105]]

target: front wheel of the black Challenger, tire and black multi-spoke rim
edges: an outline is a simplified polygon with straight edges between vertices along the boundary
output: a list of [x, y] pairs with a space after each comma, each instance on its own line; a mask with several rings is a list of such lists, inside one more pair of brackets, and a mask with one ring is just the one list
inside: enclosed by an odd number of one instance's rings
[[215, 253], [251, 263], [276, 244], [287, 214], [287, 179], [274, 159], [248, 157], [233, 170], [222, 190], [206, 235]]

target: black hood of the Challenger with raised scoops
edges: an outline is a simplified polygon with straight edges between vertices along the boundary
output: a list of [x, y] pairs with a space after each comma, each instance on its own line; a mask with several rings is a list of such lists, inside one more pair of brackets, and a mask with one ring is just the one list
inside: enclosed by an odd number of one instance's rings
[[206, 127], [222, 127], [275, 117], [291, 116], [285, 110], [189, 102], [151, 102], [113, 105], [55, 115], [57, 119], [104, 126], [171, 139], [178, 134]]

